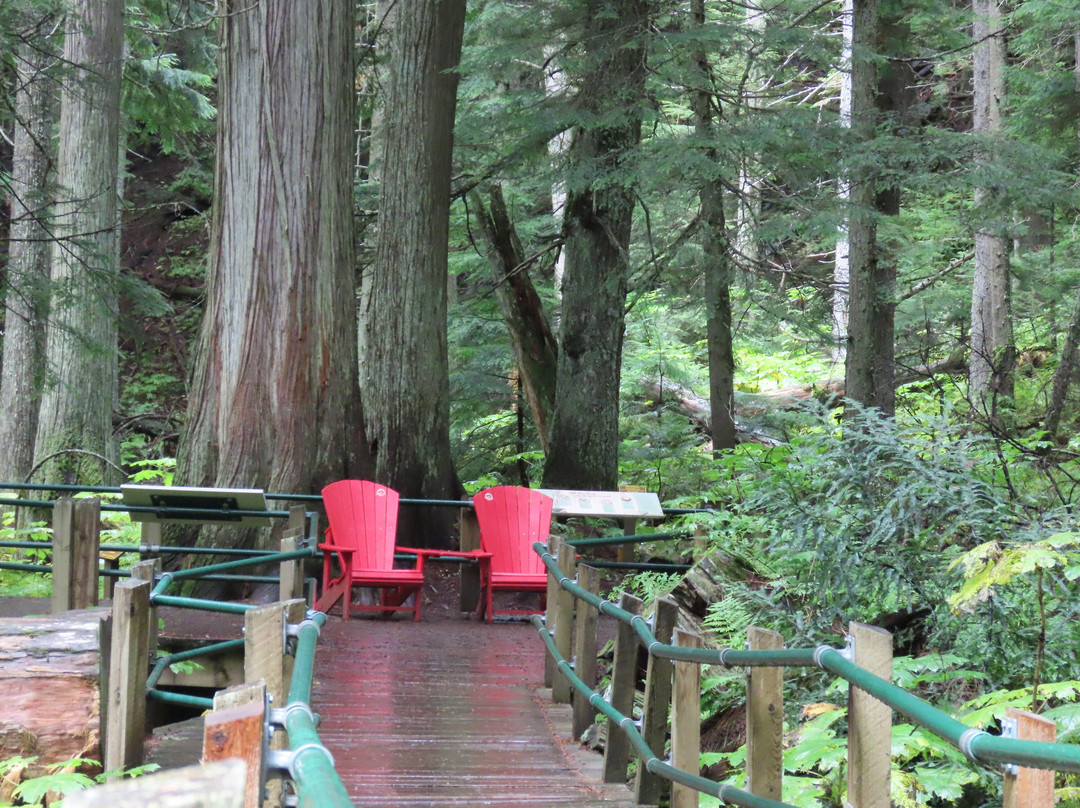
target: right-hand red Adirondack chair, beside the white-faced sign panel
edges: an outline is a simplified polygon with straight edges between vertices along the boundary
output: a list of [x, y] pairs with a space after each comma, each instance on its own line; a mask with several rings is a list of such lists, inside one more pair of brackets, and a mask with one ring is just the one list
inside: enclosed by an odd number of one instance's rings
[[[551, 533], [551, 497], [531, 488], [500, 485], [473, 497], [480, 523], [481, 597], [487, 621], [495, 617], [496, 592], [538, 592], [540, 611], [548, 594], [548, 570], [532, 550]], [[529, 609], [499, 609], [500, 615], [529, 615]]]

